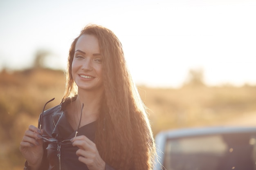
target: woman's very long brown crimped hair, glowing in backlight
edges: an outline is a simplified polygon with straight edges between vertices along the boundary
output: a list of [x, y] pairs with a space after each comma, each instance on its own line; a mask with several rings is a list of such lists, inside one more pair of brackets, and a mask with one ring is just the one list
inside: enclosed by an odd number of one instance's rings
[[94, 35], [103, 57], [104, 95], [98, 116], [95, 144], [102, 159], [116, 170], [152, 170], [155, 141], [146, 107], [135, 86], [117, 36], [103, 26], [87, 25], [70, 47], [66, 90], [62, 102], [77, 95], [72, 77], [72, 61], [77, 40]]

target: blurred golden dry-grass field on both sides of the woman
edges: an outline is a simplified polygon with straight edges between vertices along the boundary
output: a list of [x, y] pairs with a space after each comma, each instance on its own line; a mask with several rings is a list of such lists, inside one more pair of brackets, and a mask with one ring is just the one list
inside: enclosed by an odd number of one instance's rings
[[[55, 97], [48, 108], [61, 102], [64, 88], [63, 71], [34, 69], [0, 73], [1, 169], [22, 169], [25, 160], [19, 144], [25, 130], [29, 124], [37, 125], [46, 101]], [[247, 124], [246, 117], [256, 115], [256, 86], [178, 89], [139, 86], [138, 90], [148, 107], [154, 135], [175, 128], [252, 125]]]

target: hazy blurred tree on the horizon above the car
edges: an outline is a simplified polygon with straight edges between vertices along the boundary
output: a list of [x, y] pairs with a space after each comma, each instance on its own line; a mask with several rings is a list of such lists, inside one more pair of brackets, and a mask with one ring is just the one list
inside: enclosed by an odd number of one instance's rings
[[184, 86], [204, 86], [204, 71], [201, 68], [190, 69]]

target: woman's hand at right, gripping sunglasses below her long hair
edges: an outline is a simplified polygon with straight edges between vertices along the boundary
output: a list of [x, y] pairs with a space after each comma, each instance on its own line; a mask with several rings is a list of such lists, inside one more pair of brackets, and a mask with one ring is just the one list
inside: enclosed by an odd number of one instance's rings
[[96, 145], [84, 135], [74, 137], [73, 146], [79, 149], [76, 151], [78, 160], [85, 163], [90, 170], [105, 170], [106, 163], [101, 159]]

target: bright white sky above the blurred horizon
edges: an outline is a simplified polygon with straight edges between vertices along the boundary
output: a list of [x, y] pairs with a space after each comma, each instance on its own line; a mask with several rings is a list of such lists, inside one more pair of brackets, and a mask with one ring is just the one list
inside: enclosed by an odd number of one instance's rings
[[138, 85], [179, 87], [198, 68], [209, 85], [256, 84], [256, 0], [1, 0], [0, 69], [31, 66], [37, 49], [64, 69], [89, 23], [117, 35]]

